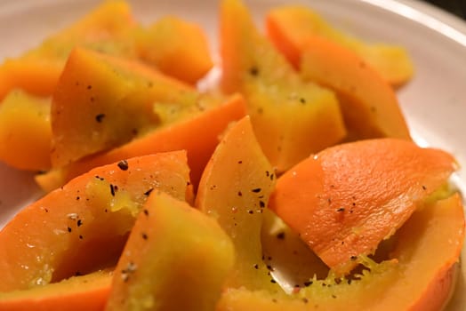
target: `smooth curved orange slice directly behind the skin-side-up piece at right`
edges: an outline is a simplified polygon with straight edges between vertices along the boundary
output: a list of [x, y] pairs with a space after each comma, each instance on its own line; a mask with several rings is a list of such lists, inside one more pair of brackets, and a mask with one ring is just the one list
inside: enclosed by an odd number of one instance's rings
[[301, 55], [302, 76], [337, 93], [350, 140], [411, 139], [395, 92], [358, 55], [318, 36]]

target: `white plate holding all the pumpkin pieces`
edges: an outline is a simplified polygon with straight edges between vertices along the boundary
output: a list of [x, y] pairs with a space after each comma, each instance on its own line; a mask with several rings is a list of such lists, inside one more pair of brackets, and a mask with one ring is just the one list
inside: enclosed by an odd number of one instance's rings
[[[130, 1], [143, 22], [165, 13], [196, 21], [217, 48], [216, 0]], [[29, 47], [76, 20], [96, 0], [2, 0], [0, 6], [0, 60]], [[267, 8], [286, 0], [246, 1], [258, 24]], [[370, 41], [402, 44], [414, 59], [416, 75], [398, 92], [415, 139], [422, 145], [452, 152], [466, 167], [466, 24], [429, 4], [413, 0], [296, 0], [321, 12], [339, 28]], [[454, 176], [466, 193], [466, 171]], [[0, 227], [38, 195], [31, 175], [0, 164]], [[462, 251], [466, 258], [466, 251]], [[466, 309], [466, 265], [462, 263], [454, 299], [448, 309]]]

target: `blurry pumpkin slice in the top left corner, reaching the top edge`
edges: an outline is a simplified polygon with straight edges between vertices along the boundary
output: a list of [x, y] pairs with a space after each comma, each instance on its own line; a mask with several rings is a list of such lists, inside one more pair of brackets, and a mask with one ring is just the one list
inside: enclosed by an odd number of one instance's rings
[[108, 1], [75, 24], [44, 40], [36, 49], [0, 67], [8, 87], [0, 89], [0, 99], [14, 88], [40, 96], [50, 96], [57, 84], [68, 53], [76, 44], [111, 54], [135, 57], [128, 30], [135, 25], [125, 1]]

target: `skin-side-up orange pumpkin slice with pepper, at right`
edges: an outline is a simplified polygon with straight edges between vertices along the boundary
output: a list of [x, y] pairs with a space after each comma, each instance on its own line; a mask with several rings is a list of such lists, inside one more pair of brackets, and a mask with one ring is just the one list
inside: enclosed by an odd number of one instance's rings
[[406, 140], [325, 149], [277, 181], [269, 207], [328, 267], [345, 274], [401, 227], [455, 170], [454, 157]]

